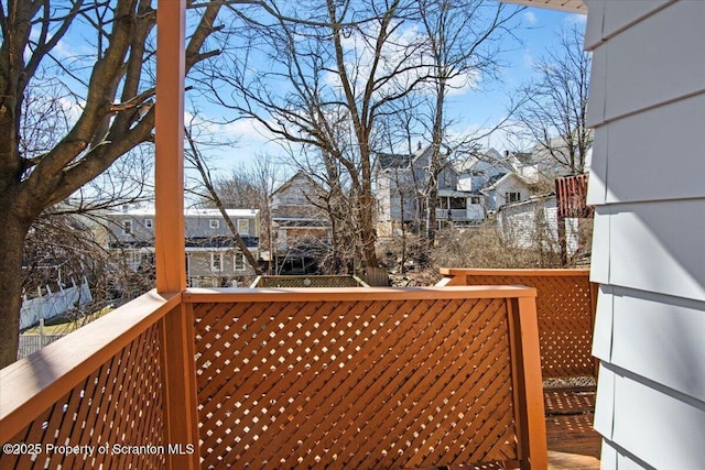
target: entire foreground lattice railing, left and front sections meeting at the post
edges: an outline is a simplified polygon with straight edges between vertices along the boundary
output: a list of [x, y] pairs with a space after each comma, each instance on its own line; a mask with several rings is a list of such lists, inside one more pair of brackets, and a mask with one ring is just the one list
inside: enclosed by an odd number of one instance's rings
[[534, 296], [150, 293], [0, 371], [0, 468], [545, 469]]

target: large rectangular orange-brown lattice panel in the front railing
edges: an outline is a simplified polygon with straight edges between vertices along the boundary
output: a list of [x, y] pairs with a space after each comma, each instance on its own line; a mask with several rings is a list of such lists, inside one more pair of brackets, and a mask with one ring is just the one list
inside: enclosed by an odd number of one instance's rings
[[503, 299], [200, 304], [204, 468], [517, 459]]

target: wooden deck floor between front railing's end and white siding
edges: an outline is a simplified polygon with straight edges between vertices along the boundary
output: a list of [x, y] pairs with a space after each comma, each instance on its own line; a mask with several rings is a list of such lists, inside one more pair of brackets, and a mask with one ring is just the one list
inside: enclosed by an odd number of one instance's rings
[[549, 469], [597, 470], [601, 439], [593, 429], [595, 387], [546, 389]]

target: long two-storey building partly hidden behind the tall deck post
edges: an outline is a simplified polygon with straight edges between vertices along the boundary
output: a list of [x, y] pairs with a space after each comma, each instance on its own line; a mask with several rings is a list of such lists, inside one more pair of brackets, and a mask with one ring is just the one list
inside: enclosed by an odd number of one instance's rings
[[[250, 252], [259, 256], [259, 210], [227, 209], [227, 215]], [[129, 208], [110, 211], [108, 247], [134, 271], [154, 264], [154, 209]], [[230, 286], [254, 274], [218, 209], [186, 209], [186, 278], [192, 287]]]

